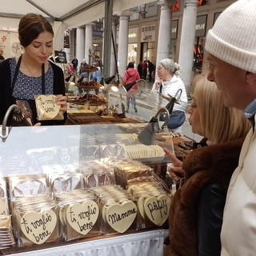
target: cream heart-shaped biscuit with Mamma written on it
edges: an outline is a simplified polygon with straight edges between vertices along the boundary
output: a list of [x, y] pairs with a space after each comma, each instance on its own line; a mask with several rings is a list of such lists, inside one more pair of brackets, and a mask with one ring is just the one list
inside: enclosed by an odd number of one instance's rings
[[124, 233], [137, 216], [137, 206], [134, 202], [113, 204], [106, 209], [106, 222], [118, 233]]

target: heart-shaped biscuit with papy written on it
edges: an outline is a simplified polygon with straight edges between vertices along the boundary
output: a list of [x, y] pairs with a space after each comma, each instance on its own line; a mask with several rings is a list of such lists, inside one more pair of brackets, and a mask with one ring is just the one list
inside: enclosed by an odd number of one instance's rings
[[162, 226], [169, 216], [170, 197], [166, 194], [150, 197], [144, 200], [144, 210], [147, 218], [157, 226]]

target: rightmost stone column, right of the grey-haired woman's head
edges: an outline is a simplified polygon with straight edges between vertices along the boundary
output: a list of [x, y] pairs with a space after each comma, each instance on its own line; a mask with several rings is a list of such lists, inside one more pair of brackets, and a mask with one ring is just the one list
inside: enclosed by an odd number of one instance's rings
[[180, 77], [190, 95], [190, 83], [194, 58], [195, 26], [197, 22], [198, 0], [186, 0], [182, 18], [182, 35], [179, 49], [178, 64], [181, 65]]

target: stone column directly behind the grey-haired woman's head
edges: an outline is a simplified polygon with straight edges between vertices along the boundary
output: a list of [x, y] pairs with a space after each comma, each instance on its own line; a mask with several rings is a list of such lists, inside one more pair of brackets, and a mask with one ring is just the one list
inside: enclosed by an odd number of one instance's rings
[[159, 30], [158, 30], [158, 51], [156, 64], [163, 58], [170, 58], [170, 38], [171, 38], [171, 10], [170, 1], [159, 0], [161, 6]]

